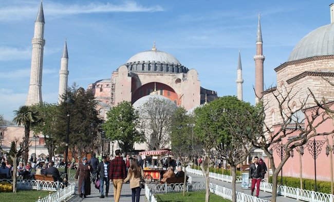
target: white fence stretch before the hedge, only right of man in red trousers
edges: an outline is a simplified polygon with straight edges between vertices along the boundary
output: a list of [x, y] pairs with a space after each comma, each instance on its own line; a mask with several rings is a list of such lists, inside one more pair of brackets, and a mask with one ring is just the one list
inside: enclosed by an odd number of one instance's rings
[[[260, 184], [260, 190], [266, 191], [266, 192], [272, 192], [272, 184], [262, 182]], [[309, 191], [299, 188], [292, 188], [287, 186], [278, 186], [277, 187], [277, 194], [295, 198], [297, 200], [305, 200], [305, 201], [314, 201], [314, 202], [332, 202], [334, 200], [333, 194], [325, 194], [315, 191]]]

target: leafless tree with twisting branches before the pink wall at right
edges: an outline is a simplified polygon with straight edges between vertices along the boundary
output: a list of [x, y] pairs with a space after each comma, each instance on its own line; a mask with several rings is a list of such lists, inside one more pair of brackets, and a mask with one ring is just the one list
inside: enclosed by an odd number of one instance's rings
[[[298, 91], [292, 93], [292, 88], [286, 92], [279, 90], [271, 91], [273, 96], [273, 105], [279, 110], [280, 124], [275, 125], [275, 130], [270, 124], [263, 122], [264, 130], [258, 134], [251, 134], [249, 140], [256, 148], [262, 149], [270, 160], [272, 169], [272, 197], [271, 201], [276, 201], [277, 193], [277, 177], [283, 168], [284, 164], [290, 157], [290, 152], [294, 148], [298, 148], [306, 142], [318, 135], [328, 135], [334, 133], [332, 131], [319, 132], [317, 129], [328, 120], [330, 117], [319, 106], [308, 107], [308, 98], [310, 93], [306, 94], [305, 99], [299, 100], [299, 107], [292, 108], [293, 100], [296, 100]], [[259, 103], [258, 116], [266, 118], [266, 111], [269, 106], [269, 101], [264, 103], [263, 100]], [[289, 138], [288, 138], [289, 137]], [[270, 152], [273, 145], [281, 147], [284, 151], [282, 161], [275, 165], [273, 154]]]

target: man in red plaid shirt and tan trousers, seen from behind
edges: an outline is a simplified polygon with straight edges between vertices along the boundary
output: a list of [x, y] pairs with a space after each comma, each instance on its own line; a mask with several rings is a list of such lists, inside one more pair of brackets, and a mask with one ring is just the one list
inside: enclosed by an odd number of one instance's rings
[[126, 176], [125, 162], [120, 156], [121, 150], [115, 151], [116, 157], [110, 163], [109, 179], [113, 181], [114, 185], [114, 199], [115, 202], [119, 202], [121, 196], [123, 181]]

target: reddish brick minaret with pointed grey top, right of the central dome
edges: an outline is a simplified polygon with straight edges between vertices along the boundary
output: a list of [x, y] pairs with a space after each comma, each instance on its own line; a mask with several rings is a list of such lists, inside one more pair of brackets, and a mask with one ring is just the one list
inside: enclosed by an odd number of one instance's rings
[[260, 15], [258, 15], [257, 36], [256, 36], [256, 55], [255, 60], [255, 104], [262, 98], [263, 92], [263, 62], [265, 56], [262, 52], [262, 33]]

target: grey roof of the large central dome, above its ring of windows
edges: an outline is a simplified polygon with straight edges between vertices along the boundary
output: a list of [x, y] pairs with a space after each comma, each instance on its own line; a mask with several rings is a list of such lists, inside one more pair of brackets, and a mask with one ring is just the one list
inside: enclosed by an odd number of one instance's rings
[[155, 48], [155, 44], [153, 45], [152, 50], [137, 53], [131, 58], [129, 58], [126, 63], [134, 63], [140, 61], [156, 61], [161, 63], [164, 62], [164, 63], [180, 64], [179, 60], [176, 59], [173, 55], [163, 51], [158, 51]]

